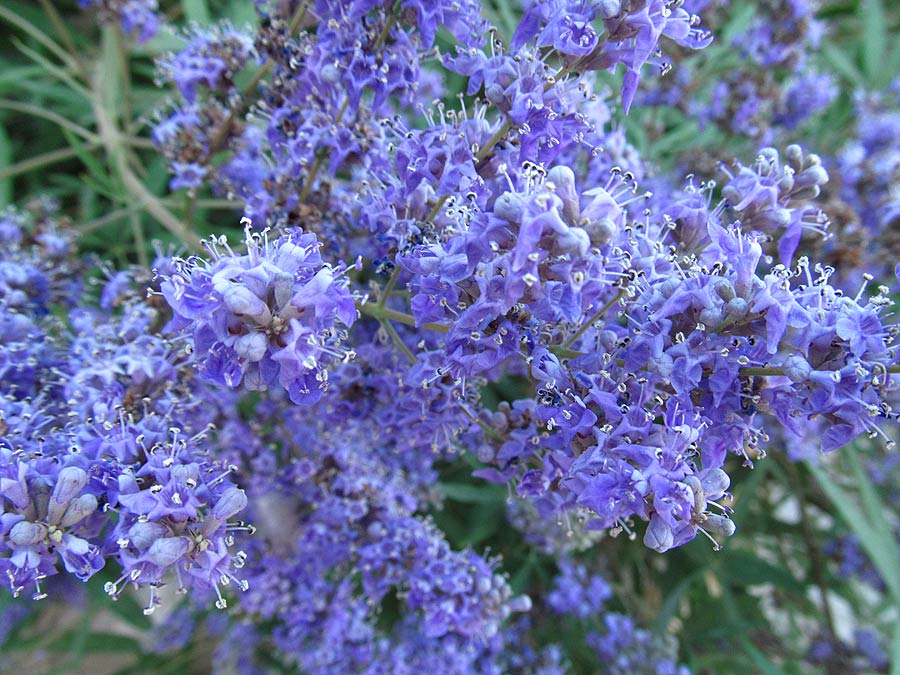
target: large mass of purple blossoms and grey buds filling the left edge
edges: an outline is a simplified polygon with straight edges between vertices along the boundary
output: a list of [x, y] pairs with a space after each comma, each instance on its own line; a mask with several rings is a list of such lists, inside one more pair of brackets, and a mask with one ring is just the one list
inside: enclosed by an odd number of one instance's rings
[[112, 275], [96, 307], [78, 298], [86, 266], [56, 264], [72, 251], [48, 215], [9, 213], [3, 232], [0, 567], [11, 592], [44, 597], [60, 565], [86, 580], [115, 561], [110, 594], [145, 586], [148, 613], [170, 574], [224, 607], [219, 585], [245, 585], [231, 519], [247, 500], [210, 456], [218, 413], [198, 400], [183, 345], [154, 329], [158, 312], [133, 290], [149, 274]]

